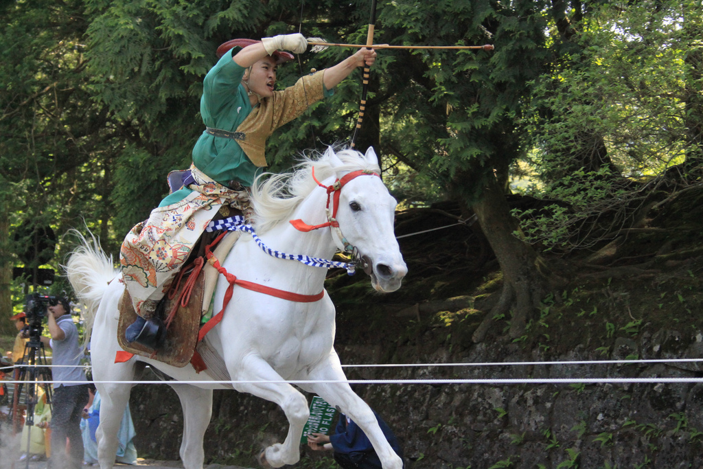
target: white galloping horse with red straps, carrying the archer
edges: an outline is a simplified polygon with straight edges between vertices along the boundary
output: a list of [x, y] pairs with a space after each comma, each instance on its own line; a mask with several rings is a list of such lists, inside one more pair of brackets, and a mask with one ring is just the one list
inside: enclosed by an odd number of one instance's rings
[[[360, 169], [364, 172], [359, 172]], [[335, 181], [354, 172], [361, 176], [344, 181], [346, 184], [337, 191], [335, 218], [339, 229], [325, 227], [306, 233], [289, 223], [292, 219], [302, 219], [311, 225], [325, 224], [328, 221], [325, 206], [329, 201], [330, 211], [334, 210], [335, 191], [330, 189], [332, 193], [328, 196], [323, 186], [333, 186]], [[290, 178], [271, 176], [264, 184], [257, 184], [252, 198], [259, 238], [281, 252], [325, 259], [342, 248], [341, 240], [345, 238], [347, 245], [353, 245], [366, 261], [373, 287], [380, 292], [397, 290], [407, 267], [394, 236], [396, 201], [378, 174], [371, 172], [379, 172], [373, 148], [366, 155], [355, 150], [335, 153], [328, 148], [318, 160], [306, 159], [300, 163]], [[92, 311], [89, 327], [92, 326], [93, 379], [102, 397], [96, 433], [101, 469], [112, 468], [115, 462], [117, 430], [132, 386], [121, 382], [135, 379], [138, 362], [176, 380], [169, 384], [183, 406], [180, 454], [186, 469], [202, 469], [205, 458], [202, 440], [212, 414], [212, 390], [232, 387], [276, 402], [288, 418], [290, 426], [285, 441], [266, 447], [262, 461], [274, 468], [297, 463], [309, 410], [304, 395], [285, 383], [287, 380], [338, 406], [368, 435], [383, 468], [401, 469], [401, 458], [383, 436], [368, 405], [349, 385], [338, 383], [346, 378], [333, 347], [335, 307], [324, 291], [326, 269], [271, 257], [245, 234], [222, 264], [228, 272], [246, 281], [302, 295], [323, 292], [321, 300], [316, 302], [293, 302], [235, 286], [223, 319], [205, 338], [224, 360], [231, 377], [228, 385], [213, 383], [207, 373], [196, 373], [190, 364], [176, 368], [141, 356], [115, 363], [115, 353], [120, 350], [117, 302], [124, 292], [124, 284], [117, 281], [120, 271], [97, 241], [84, 241], [67, 262], [72, 287], [86, 309]], [[227, 286], [224, 276], [219, 276], [214, 311], [221, 309]], [[177, 383], [178, 380], [198, 383]]]

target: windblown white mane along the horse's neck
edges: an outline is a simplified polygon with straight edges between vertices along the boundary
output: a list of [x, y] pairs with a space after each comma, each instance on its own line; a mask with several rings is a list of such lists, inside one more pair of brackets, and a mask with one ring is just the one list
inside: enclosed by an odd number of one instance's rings
[[321, 182], [330, 176], [341, 177], [358, 169], [380, 172], [378, 165], [368, 162], [356, 150], [344, 147], [335, 153], [335, 148], [328, 147], [323, 154], [312, 152], [311, 155], [302, 155], [291, 173], [264, 173], [252, 185], [252, 221], [258, 233], [264, 233], [280, 221], [290, 219], [295, 207], [317, 187], [312, 177], [313, 168], [315, 177]]

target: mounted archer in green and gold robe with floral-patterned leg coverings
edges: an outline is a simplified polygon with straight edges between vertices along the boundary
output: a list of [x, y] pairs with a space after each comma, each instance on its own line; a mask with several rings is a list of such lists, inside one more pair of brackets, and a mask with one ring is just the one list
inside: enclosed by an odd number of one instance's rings
[[295, 58], [287, 51], [306, 49], [302, 34], [233, 39], [219, 46], [219, 61], [203, 82], [200, 114], [205, 130], [193, 148], [193, 165], [182, 187], [176, 184], [181, 188], [122, 243], [122, 277], [138, 315], [127, 328], [128, 342], [161, 347], [165, 326], [156, 311], [160, 300], [218, 210], [245, 215], [250, 210], [247, 188], [267, 165], [266, 139], [376, 57], [373, 50], [359, 49], [337, 65], [276, 91], [278, 65]]

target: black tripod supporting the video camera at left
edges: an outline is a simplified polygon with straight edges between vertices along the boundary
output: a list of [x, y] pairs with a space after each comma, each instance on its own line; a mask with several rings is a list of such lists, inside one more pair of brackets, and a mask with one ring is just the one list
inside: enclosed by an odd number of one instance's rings
[[[34, 332], [34, 330], [32, 330]], [[40, 340], [41, 330], [39, 333], [30, 333], [30, 340], [25, 344], [25, 354], [22, 356], [22, 363], [19, 368], [15, 368], [15, 392], [13, 396], [12, 406], [12, 422], [15, 432], [22, 432], [20, 419], [20, 396], [25, 396], [25, 425], [31, 427], [34, 425], [34, 406], [37, 404], [37, 386], [44, 389], [46, 396], [46, 404], [51, 406], [51, 385], [52, 380], [49, 368], [46, 368], [46, 352], [44, 344]], [[43, 383], [37, 383], [37, 381]], [[22, 394], [24, 392], [24, 394]], [[31, 429], [27, 432], [27, 465], [30, 467], [30, 439]]]

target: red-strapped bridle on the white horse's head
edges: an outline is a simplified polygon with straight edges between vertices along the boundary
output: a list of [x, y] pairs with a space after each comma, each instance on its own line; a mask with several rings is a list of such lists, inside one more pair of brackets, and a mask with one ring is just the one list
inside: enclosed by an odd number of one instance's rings
[[[312, 178], [315, 180], [318, 186], [324, 188], [327, 191], [327, 205], [325, 207], [325, 214], [327, 214], [327, 221], [318, 225], [309, 225], [302, 221], [302, 219], [290, 220], [290, 224], [295, 227], [298, 231], [303, 231], [305, 233], [313, 231], [316, 229], [330, 227], [330, 231], [334, 234], [333, 240], [335, 245], [342, 252], [347, 252], [352, 257], [352, 263], [356, 266], [361, 266], [361, 268], [368, 274], [368, 269], [370, 266], [364, 257], [359, 253], [359, 249], [356, 246], [349, 243], [347, 238], [342, 234], [342, 229], [340, 228], [340, 223], [337, 221], [337, 210], [340, 207], [340, 196], [342, 195], [342, 188], [359, 176], [378, 176], [380, 175], [376, 172], [370, 171], [369, 169], [359, 169], [342, 176], [341, 179], [336, 179], [333, 184], [325, 186], [315, 177], [315, 169], [312, 169]], [[330, 210], [331, 204], [331, 210]]]

